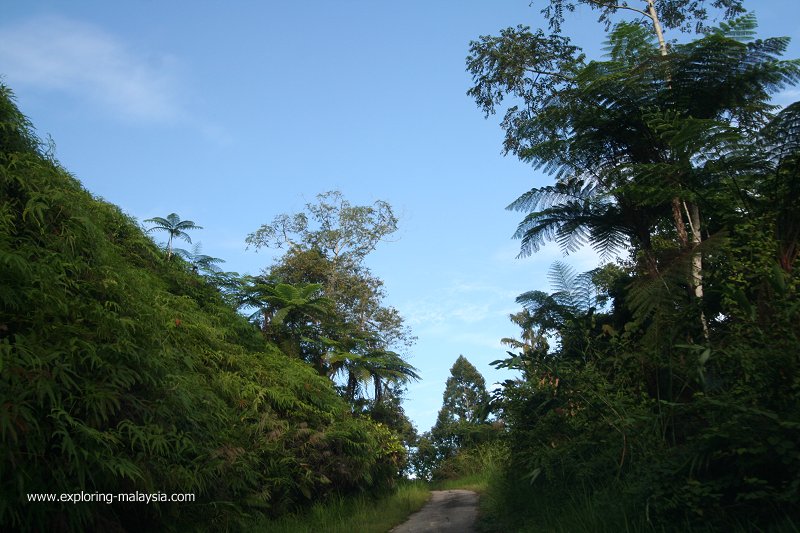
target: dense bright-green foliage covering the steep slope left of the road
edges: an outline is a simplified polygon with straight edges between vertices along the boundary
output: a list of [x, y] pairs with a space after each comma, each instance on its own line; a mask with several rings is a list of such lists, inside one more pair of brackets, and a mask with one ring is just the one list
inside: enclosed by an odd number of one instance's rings
[[[231, 276], [197, 272], [85, 191], [0, 86], [0, 529], [242, 529], [398, 478], [398, 434], [238, 314]], [[26, 497], [136, 492], [196, 502]]]

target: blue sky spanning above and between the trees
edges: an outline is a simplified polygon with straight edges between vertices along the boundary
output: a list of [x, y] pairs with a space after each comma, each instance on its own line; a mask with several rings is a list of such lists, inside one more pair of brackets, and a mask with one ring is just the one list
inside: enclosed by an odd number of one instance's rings
[[[423, 380], [407, 414], [430, 428], [459, 354], [490, 384], [508, 377], [489, 363], [517, 333], [514, 298], [546, 290], [561, 254], [515, 259], [520, 215], [504, 207], [550, 180], [502, 156], [499, 118], [465, 94], [464, 59], [480, 35], [544, 26], [528, 0], [8, 4], [0, 75], [89, 191], [139, 220], [195, 221], [203, 253], [251, 274], [273, 256], [244, 239], [275, 215], [333, 189], [388, 201], [400, 231], [368, 265], [418, 337]], [[796, 0], [746, 6], [761, 35], [792, 36], [787, 57], [800, 57]], [[591, 13], [566, 31], [597, 56]], [[597, 263], [590, 250], [567, 260]]]

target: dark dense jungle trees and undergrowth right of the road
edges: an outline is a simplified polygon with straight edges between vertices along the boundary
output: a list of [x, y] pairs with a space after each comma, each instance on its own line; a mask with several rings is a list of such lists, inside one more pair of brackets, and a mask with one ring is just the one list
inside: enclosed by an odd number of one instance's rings
[[800, 527], [800, 102], [770, 102], [800, 62], [752, 15], [657, 41], [678, 3], [602, 60], [521, 26], [472, 43], [470, 94], [511, 101], [506, 150], [555, 178], [509, 207], [521, 255], [608, 261], [517, 300], [498, 531]]

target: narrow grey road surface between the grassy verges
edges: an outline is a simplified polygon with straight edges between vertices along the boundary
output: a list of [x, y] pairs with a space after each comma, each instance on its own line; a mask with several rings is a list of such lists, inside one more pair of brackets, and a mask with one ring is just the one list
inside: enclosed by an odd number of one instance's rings
[[431, 501], [389, 533], [474, 533], [478, 495], [471, 490], [434, 490]]

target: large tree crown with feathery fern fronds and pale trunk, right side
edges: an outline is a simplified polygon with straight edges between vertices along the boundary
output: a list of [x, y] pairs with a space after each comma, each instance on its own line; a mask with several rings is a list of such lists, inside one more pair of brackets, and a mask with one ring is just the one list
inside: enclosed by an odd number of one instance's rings
[[557, 179], [509, 206], [528, 213], [516, 233], [521, 254], [546, 240], [565, 252], [587, 241], [602, 252], [630, 242], [658, 276], [652, 239], [671, 217], [669, 238], [690, 261], [708, 339], [701, 243], [709, 228], [700, 207], [711, 196], [702, 191], [738, 163], [722, 156], [737, 135], [764, 124], [770, 94], [798, 77], [796, 62], [778, 59], [787, 41], [755, 41], [754, 30], [754, 18], [743, 17], [663, 57], [648, 30], [620, 24], [608, 60], [590, 63], [564, 38], [527, 28], [474, 42], [470, 93], [487, 113], [504, 96], [521, 99], [503, 121], [506, 149]]

